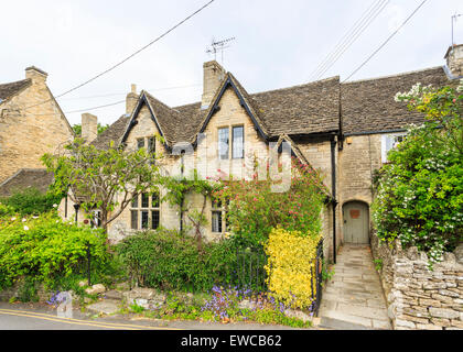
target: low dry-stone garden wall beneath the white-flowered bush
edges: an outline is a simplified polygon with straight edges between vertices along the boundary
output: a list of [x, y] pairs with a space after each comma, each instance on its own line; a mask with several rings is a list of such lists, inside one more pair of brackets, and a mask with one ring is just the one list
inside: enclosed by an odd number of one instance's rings
[[372, 235], [372, 252], [397, 330], [463, 330], [463, 244], [428, 267], [417, 248], [389, 248]]

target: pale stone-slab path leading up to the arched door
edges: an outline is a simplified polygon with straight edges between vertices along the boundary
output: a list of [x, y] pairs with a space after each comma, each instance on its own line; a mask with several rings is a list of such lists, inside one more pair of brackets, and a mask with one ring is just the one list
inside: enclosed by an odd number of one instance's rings
[[390, 330], [386, 298], [369, 245], [344, 244], [334, 275], [323, 289], [320, 327], [336, 330]]

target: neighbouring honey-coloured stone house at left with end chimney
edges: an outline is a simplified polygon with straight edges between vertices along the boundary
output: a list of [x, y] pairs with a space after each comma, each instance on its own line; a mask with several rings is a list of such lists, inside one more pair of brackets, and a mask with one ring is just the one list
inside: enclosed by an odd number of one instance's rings
[[50, 185], [53, 177], [44, 172], [40, 157], [74, 138], [46, 77], [45, 72], [31, 66], [25, 79], [0, 85], [1, 196], [18, 188]]

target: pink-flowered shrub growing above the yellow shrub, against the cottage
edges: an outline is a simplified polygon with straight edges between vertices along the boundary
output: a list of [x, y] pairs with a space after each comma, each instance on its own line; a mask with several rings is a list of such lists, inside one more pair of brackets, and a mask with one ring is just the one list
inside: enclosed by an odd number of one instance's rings
[[291, 162], [291, 185], [287, 191], [273, 190], [276, 182], [219, 180], [223, 187], [214, 193], [227, 211], [227, 226], [240, 248], [261, 250], [272, 229], [319, 233], [320, 213], [327, 190], [319, 172], [299, 160]]

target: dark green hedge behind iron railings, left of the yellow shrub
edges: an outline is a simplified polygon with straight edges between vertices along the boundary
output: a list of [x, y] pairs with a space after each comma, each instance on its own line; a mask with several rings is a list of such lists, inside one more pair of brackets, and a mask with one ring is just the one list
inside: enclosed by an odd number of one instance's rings
[[116, 246], [128, 275], [140, 285], [164, 290], [207, 290], [232, 280], [236, 251], [230, 241], [205, 243], [160, 229], [126, 238]]

